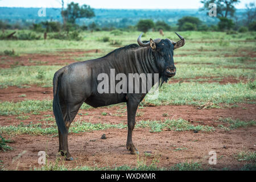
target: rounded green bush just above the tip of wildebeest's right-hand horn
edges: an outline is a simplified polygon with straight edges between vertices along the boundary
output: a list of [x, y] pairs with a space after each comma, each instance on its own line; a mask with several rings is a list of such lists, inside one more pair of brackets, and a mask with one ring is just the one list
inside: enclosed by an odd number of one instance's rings
[[183, 18], [178, 20], [177, 25], [180, 31], [184, 30], [196, 30], [200, 24], [201, 20], [199, 18], [193, 16], [184, 16]]

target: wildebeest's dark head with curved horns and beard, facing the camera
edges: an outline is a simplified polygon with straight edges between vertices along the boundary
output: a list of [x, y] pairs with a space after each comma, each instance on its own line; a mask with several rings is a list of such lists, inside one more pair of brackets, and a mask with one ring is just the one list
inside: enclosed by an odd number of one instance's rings
[[[175, 32], [175, 34], [177, 34]], [[146, 47], [150, 46], [154, 55], [154, 59], [156, 60], [156, 66], [160, 72], [160, 78], [162, 79], [162, 83], [168, 80], [168, 78], [175, 76], [176, 67], [174, 65], [174, 49], [180, 48], [184, 46], [185, 39], [179, 36], [180, 40], [178, 42], [174, 42], [170, 39], [150, 39], [149, 42], [143, 43], [141, 41], [141, 36], [138, 38], [139, 46]]]

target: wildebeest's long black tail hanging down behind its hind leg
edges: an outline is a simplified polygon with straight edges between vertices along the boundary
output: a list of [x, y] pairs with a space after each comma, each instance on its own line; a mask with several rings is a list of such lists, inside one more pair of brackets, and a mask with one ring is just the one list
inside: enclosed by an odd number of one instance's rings
[[63, 75], [63, 71], [60, 69], [57, 71], [53, 77], [53, 113], [55, 116], [55, 120], [57, 123], [57, 126], [61, 132], [61, 134], [67, 134], [68, 130], [65, 127], [64, 119], [63, 119], [63, 113], [61, 111], [60, 107], [60, 98], [59, 98], [59, 90], [61, 81], [60, 78]]

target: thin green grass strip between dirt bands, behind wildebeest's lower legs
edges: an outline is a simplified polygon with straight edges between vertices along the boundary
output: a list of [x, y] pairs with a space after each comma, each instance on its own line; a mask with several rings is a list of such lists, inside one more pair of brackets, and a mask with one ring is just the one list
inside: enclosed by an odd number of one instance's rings
[[[57, 134], [57, 126], [53, 121], [53, 118], [48, 118], [43, 123], [32, 123], [30, 122], [27, 125], [24, 125], [23, 122], [20, 122], [18, 126], [0, 126], [0, 133], [7, 135], [19, 135], [19, 134], [29, 134], [29, 135], [53, 135]], [[189, 131], [197, 130], [210, 132], [214, 131], [214, 127], [202, 126], [202, 125], [191, 125], [188, 121], [184, 119], [173, 119], [166, 121], [139, 121], [136, 128], [149, 128], [150, 132], [161, 132], [163, 130], [174, 130], [174, 131]], [[118, 124], [109, 124], [109, 123], [90, 123], [82, 122], [81, 119], [77, 122], [73, 122], [69, 128], [69, 133], [82, 133], [88, 131], [96, 130], [106, 130], [106, 129], [126, 129], [127, 125], [123, 123]]]

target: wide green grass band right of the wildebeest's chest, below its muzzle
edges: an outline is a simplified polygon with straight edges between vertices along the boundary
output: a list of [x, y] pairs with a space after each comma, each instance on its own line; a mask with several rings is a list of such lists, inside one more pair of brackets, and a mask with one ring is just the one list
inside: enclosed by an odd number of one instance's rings
[[155, 105], [203, 105], [207, 102], [213, 102], [214, 105], [235, 104], [247, 100], [254, 103], [256, 100], [255, 89], [249, 82], [225, 85], [197, 82], [163, 84], [157, 100], [148, 100], [146, 96], [146, 102]]

